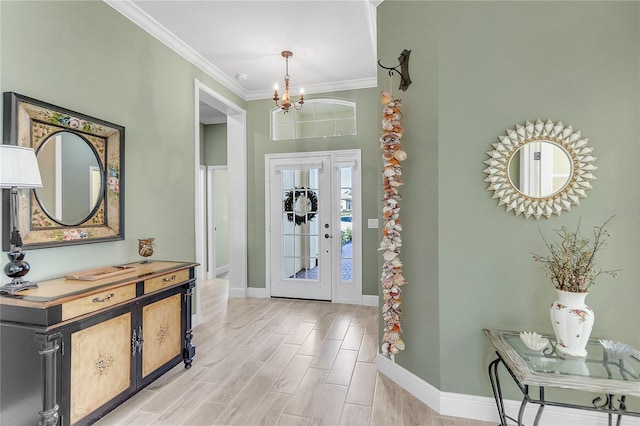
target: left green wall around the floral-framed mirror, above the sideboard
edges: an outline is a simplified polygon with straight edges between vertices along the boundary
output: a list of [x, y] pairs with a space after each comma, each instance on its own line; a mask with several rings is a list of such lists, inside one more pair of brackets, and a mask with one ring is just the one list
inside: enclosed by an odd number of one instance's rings
[[[0, 2], [0, 89], [125, 126], [124, 241], [30, 250], [29, 277], [194, 260], [194, 78], [244, 102], [103, 2]], [[34, 25], [37, 23], [37, 25]]]

